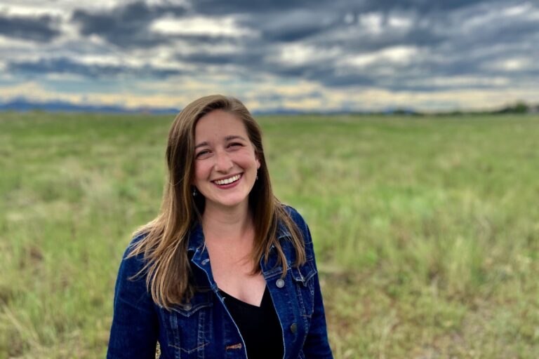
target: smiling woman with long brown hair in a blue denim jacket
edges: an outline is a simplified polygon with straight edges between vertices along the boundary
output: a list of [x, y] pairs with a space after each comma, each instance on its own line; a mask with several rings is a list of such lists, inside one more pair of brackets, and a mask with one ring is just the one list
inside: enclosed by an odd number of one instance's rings
[[332, 358], [307, 224], [277, 201], [258, 124], [202, 97], [173, 122], [160, 215], [121, 262], [107, 358]]

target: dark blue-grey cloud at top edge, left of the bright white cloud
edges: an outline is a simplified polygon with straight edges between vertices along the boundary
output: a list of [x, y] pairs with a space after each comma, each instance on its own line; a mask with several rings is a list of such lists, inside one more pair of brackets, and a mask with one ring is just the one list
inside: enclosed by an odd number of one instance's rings
[[149, 31], [152, 21], [163, 15], [181, 16], [180, 6], [148, 6], [144, 1], [117, 6], [112, 11], [74, 11], [72, 20], [80, 27], [81, 34], [99, 35], [110, 43], [124, 48], [157, 46], [167, 43], [166, 36]]

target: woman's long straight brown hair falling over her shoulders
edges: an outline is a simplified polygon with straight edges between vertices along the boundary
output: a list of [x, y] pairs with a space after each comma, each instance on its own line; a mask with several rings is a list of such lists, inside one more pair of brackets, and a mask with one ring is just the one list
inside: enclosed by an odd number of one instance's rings
[[234, 97], [210, 95], [201, 97], [182, 109], [175, 117], [168, 133], [166, 163], [168, 182], [165, 184], [161, 211], [157, 218], [135, 231], [141, 236], [135, 242], [128, 257], [142, 254], [145, 266], [138, 275], [146, 276], [146, 284], [155, 303], [169, 309], [173, 304], [187, 302], [196, 288], [189, 280], [191, 273], [187, 245], [189, 229], [201, 220], [204, 213], [204, 196], [192, 196], [194, 177], [194, 129], [202, 116], [220, 109], [234, 114], [244, 122], [249, 140], [260, 161], [258, 180], [249, 194], [249, 208], [253, 214], [255, 238], [251, 259], [255, 263], [254, 273], [260, 273], [260, 258], [267, 258], [274, 245], [277, 251], [277, 265], [283, 267], [286, 275], [287, 262], [277, 240], [277, 224], [286, 226], [291, 236], [288, 238], [295, 248], [294, 266], [305, 263], [305, 248], [301, 232], [292, 221], [284, 205], [272, 191], [270, 173], [262, 148], [262, 133], [248, 109]]

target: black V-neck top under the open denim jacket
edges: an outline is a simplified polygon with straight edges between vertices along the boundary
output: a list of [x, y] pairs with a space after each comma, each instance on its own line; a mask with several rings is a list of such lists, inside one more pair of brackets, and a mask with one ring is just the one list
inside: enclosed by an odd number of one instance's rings
[[260, 306], [253, 306], [220, 290], [232, 319], [244, 338], [247, 358], [283, 358], [283, 331], [273, 306], [270, 290], [265, 289]]

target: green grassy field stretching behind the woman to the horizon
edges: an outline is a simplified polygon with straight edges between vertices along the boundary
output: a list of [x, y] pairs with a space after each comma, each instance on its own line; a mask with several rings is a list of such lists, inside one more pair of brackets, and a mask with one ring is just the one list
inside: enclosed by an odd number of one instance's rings
[[[102, 358], [173, 116], [0, 114], [0, 358]], [[539, 116], [262, 117], [336, 358], [539, 358]]]

